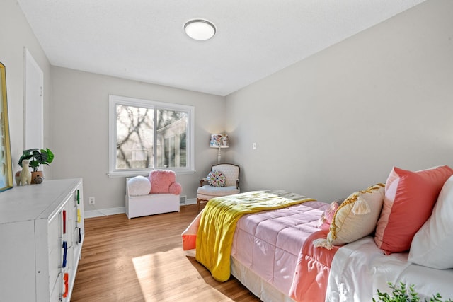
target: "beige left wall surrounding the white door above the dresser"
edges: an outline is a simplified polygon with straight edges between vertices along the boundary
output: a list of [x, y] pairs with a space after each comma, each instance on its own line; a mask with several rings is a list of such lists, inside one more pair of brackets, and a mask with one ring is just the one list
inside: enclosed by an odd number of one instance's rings
[[[50, 63], [17, 2], [15, 0], [1, 0], [0, 12], [0, 62], [6, 66], [11, 156], [13, 170], [17, 171], [21, 170], [17, 162], [24, 146], [24, 47], [28, 49], [44, 74], [44, 144], [52, 150], [52, 144], [49, 140]], [[45, 177], [52, 178], [52, 170], [45, 168]]]

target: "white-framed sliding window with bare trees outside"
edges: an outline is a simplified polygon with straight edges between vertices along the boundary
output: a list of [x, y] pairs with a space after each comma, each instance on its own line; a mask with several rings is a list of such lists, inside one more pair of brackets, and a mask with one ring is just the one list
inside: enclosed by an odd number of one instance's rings
[[193, 172], [193, 106], [110, 95], [108, 107], [109, 176]]

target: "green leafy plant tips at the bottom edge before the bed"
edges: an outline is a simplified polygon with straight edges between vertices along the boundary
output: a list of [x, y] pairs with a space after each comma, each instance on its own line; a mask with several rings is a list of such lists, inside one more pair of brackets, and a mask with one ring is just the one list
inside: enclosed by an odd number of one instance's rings
[[[412, 284], [411, 286], [406, 286], [405, 283], [400, 282], [399, 286], [391, 284], [391, 282], [388, 282], [389, 287], [392, 289], [391, 294], [387, 293], [382, 293], [377, 290], [377, 296], [379, 297], [378, 300], [373, 298], [373, 302], [377, 301], [382, 301], [382, 302], [418, 302], [420, 301], [420, 297], [418, 296], [418, 293], [414, 289], [414, 285]], [[432, 295], [432, 298], [430, 300], [427, 300], [425, 298], [425, 302], [442, 302], [442, 296], [440, 296], [439, 293]], [[453, 302], [452, 299], [445, 300], [446, 302]]]

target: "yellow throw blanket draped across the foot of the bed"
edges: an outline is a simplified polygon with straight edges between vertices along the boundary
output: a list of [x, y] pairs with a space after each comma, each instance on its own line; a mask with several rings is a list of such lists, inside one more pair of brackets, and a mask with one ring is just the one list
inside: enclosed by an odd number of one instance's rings
[[246, 192], [211, 199], [200, 219], [195, 259], [210, 270], [214, 279], [226, 281], [230, 277], [230, 254], [236, 222], [241, 216], [314, 200], [277, 190]]

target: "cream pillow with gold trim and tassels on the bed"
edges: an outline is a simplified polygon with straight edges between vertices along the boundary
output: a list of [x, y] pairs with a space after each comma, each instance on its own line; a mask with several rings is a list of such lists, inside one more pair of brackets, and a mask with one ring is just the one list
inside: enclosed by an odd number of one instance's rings
[[333, 215], [327, 238], [314, 240], [314, 246], [330, 250], [332, 245], [351, 243], [373, 233], [381, 214], [384, 193], [385, 185], [379, 183], [350, 194]]

